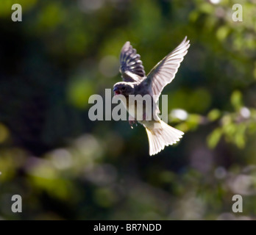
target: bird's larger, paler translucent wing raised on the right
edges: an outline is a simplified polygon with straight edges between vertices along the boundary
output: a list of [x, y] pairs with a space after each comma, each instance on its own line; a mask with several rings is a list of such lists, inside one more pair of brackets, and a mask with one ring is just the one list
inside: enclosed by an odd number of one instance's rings
[[143, 81], [144, 84], [149, 86], [150, 92], [154, 95], [155, 102], [157, 102], [163, 87], [174, 79], [180, 63], [188, 52], [189, 46], [189, 40], [185, 37], [174, 51], [171, 51], [170, 54], [154, 66], [147, 78]]

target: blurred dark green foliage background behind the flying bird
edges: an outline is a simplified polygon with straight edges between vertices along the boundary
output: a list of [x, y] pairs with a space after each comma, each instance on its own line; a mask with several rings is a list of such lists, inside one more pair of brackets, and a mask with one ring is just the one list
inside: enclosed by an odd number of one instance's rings
[[[239, 1], [242, 22], [235, 3], [1, 0], [0, 218], [255, 219], [256, 1]], [[185, 131], [177, 145], [149, 157], [142, 126], [88, 119], [90, 95], [121, 79], [127, 40], [149, 72], [185, 35], [191, 48], [163, 90]]]

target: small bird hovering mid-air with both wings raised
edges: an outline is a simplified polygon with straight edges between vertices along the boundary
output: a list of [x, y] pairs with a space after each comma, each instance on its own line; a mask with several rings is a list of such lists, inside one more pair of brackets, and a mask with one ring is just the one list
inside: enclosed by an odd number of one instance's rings
[[[174, 129], [163, 120], [160, 120], [157, 101], [166, 84], [174, 79], [180, 63], [188, 52], [189, 46], [189, 40], [185, 37], [182, 43], [158, 62], [147, 76], [142, 65], [141, 56], [137, 54], [136, 49], [132, 48], [129, 42], [125, 43], [121, 49], [120, 73], [124, 82], [117, 82], [113, 87], [113, 92], [115, 97], [120, 96], [121, 101], [124, 103], [129, 113], [131, 127], [138, 121], [146, 128], [150, 156], [159, 153], [165, 146], [173, 145], [184, 134], [182, 131]], [[152, 114], [146, 113], [146, 109], [143, 106], [143, 110], [141, 110], [143, 118], [141, 120], [137, 118], [136, 120], [136, 103], [132, 107], [135, 110], [131, 110], [129, 107], [131, 102], [129, 97], [134, 97], [134, 95], [142, 95], [142, 97], [143, 95], [150, 95], [149, 97], [152, 98]], [[152, 120], [148, 120], [146, 117], [152, 117]]]

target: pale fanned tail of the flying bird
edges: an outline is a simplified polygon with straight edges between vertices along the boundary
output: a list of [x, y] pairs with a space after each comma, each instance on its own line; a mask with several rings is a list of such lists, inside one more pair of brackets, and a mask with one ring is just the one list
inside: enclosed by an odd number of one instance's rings
[[[145, 126], [146, 127], [146, 126]], [[149, 129], [146, 127], [149, 138], [149, 155], [152, 156], [162, 151], [166, 146], [173, 145], [182, 138], [182, 131], [179, 131], [160, 120], [160, 128]]]

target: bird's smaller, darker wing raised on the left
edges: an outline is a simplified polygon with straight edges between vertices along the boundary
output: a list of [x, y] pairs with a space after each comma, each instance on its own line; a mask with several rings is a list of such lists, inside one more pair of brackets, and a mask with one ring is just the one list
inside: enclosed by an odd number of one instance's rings
[[140, 82], [146, 76], [141, 56], [129, 42], [121, 49], [120, 64], [120, 73], [125, 82]]

